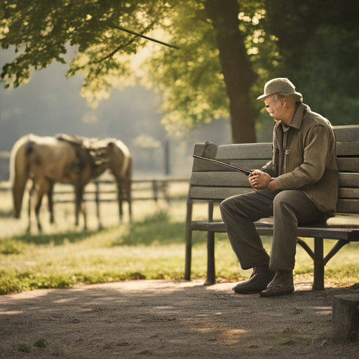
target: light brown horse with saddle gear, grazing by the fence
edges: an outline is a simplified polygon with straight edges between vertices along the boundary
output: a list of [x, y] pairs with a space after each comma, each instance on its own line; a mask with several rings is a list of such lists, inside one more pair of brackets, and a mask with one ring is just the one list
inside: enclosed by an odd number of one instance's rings
[[[109, 168], [118, 184], [120, 219], [122, 220], [123, 215], [123, 198], [128, 201], [131, 219], [131, 167], [130, 151], [120, 140], [96, 140], [67, 135], [39, 137], [30, 134], [21, 137], [15, 142], [10, 156], [14, 216], [20, 217], [22, 198], [29, 178], [33, 182], [29, 196], [29, 219], [30, 199], [35, 196], [35, 213], [39, 231], [41, 231], [39, 210], [43, 195], [48, 194], [50, 222], [53, 222], [53, 185], [55, 183], [73, 184], [76, 194], [76, 225], [79, 224], [81, 210], [86, 229], [83, 190], [90, 179], [101, 175]], [[99, 216], [98, 219], [99, 226], [102, 227]]]

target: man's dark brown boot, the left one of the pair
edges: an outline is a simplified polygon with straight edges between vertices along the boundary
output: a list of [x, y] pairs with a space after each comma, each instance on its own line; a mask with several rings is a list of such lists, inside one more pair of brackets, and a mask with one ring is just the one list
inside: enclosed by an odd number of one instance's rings
[[248, 280], [239, 282], [232, 288], [233, 292], [238, 294], [255, 294], [265, 290], [267, 285], [274, 278], [276, 272], [269, 269], [269, 264], [256, 266]]

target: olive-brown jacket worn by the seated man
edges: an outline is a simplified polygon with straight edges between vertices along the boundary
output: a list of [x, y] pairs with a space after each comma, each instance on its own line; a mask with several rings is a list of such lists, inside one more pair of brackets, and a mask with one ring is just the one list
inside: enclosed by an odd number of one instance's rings
[[262, 170], [279, 189], [298, 189], [323, 212], [336, 211], [339, 174], [334, 132], [326, 118], [299, 104], [289, 126], [273, 130], [273, 159]]

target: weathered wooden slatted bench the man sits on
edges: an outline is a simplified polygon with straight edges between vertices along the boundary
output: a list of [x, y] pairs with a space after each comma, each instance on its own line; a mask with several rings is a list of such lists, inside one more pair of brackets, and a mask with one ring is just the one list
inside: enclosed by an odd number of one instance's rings
[[[325, 264], [346, 244], [359, 241], [359, 126], [336, 126], [339, 198], [337, 213], [324, 226], [299, 226], [298, 237], [314, 238], [314, 251], [301, 238], [301, 245], [314, 262], [313, 290], [324, 290]], [[204, 144], [196, 144], [194, 154], [202, 156]], [[271, 161], [271, 143], [229, 144], [219, 146], [216, 159], [245, 169], [261, 169]], [[192, 231], [208, 232], [208, 271], [205, 284], [215, 283], [215, 233], [225, 233], [223, 222], [213, 222], [213, 205], [229, 196], [245, 194], [253, 189], [248, 177], [217, 163], [194, 158], [186, 220], [186, 264], [184, 278], [191, 278]], [[208, 201], [208, 220], [192, 221], [194, 200]], [[271, 218], [256, 222], [259, 236], [272, 236]], [[324, 257], [323, 239], [337, 243]]]

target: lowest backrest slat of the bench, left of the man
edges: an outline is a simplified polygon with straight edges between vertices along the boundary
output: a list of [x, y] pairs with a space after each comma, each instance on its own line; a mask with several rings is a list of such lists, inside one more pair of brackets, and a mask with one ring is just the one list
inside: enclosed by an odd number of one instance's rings
[[191, 186], [189, 196], [192, 199], [208, 199], [222, 201], [225, 198], [236, 196], [237, 194], [248, 194], [252, 192], [252, 187], [197, 187]]

